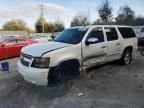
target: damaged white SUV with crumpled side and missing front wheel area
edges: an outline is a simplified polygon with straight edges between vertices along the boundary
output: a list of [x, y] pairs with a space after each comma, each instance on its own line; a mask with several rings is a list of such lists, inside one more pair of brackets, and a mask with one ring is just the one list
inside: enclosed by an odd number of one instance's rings
[[67, 82], [80, 75], [80, 70], [119, 60], [128, 65], [137, 49], [132, 27], [94, 25], [69, 28], [54, 42], [38, 43], [21, 50], [18, 71], [25, 80], [36, 85]]

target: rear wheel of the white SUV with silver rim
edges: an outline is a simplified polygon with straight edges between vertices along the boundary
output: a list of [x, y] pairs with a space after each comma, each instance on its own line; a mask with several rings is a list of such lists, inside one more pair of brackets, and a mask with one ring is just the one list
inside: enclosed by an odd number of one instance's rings
[[120, 59], [122, 65], [129, 65], [132, 62], [132, 50], [126, 49]]

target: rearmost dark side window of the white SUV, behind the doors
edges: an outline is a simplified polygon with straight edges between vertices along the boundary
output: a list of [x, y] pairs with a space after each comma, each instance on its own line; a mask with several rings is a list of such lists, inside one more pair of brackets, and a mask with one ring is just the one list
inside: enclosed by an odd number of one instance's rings
[[118, 30], [124, 39], [136, 37], [136, 34], [132, 28], [118, 27]]

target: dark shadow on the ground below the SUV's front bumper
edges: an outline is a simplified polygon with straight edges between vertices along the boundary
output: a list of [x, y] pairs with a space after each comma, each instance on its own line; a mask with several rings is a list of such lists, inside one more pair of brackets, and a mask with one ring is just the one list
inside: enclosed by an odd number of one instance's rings
[[61, 84], [53, 87], [47, 86], [36, 86], [34, 84], [28, 83], [22, 77], [17, 78], [17, 92], [23, 91], [24, 94], [37, 95], [43, 98], [57, 98], [64, 96], [68, 90], [68, 84]]

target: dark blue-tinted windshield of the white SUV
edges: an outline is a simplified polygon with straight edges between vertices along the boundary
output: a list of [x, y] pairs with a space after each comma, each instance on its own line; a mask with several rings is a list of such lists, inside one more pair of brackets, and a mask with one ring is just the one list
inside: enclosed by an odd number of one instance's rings
[[87, 28], [66, 29], [62, 33], [57, 35], [54, 41], [78, 44], [82, 40], [86, 32]]

